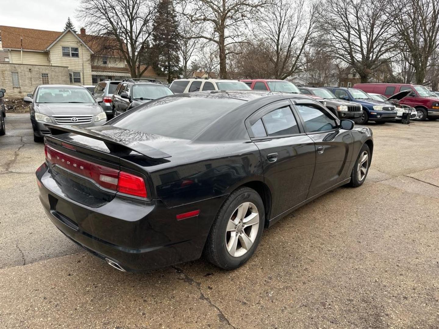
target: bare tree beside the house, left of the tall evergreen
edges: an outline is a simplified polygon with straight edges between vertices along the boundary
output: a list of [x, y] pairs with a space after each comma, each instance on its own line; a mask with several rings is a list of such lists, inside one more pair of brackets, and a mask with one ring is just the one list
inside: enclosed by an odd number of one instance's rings
[[133, 78], [140, 78], [148, 65], [149, 42], [153, 31], [155, 6], [145, 0], [81, 0], [78, 18], [103, 54], [122, 57]]

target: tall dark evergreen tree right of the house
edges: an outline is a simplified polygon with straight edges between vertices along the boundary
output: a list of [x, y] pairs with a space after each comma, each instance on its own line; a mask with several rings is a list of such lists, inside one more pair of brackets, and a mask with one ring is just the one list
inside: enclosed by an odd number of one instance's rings
[[152, 32], [153, 65], [159, 72], [168, 76], [168, 82], [181, 74], [178, 21], [172, 0], [160, 0], [156, 7], [154, 29]]

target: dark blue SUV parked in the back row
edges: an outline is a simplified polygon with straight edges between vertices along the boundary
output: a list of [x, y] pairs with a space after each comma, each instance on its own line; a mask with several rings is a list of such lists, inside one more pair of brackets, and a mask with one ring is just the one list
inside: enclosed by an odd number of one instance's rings
[[368, 121], [384, 123], [395, 120], [396, 107], [380, 100], [372, 99], [367, 93], [360, 89], [343, 87], [325, 87], [341, 100], [349, 100], [361, 104], [363, 113], [356, 120], [360, 125]]

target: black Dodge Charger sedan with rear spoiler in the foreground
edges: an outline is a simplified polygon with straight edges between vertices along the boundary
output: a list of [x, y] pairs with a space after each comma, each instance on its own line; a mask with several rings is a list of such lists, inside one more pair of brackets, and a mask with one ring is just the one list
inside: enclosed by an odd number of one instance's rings
[[122, 271], [204, 256], [232, 269], [264, 227], [371, 164], [371, 129], [309, 97], [212, 91], [92, 128], [47, 125], [40, 200], [68, 238]]

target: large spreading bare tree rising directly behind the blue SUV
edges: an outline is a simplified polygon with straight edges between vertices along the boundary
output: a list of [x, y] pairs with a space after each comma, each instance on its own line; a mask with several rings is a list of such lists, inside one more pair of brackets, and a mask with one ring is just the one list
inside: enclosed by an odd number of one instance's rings
[[[324, 0], [319, 7], [319, 38], [327, 51], [352, 66], [367, 82], [393, 54], [395, 30], [390, 0]], [[405, 4], [405, 3], [404, 3]]]

